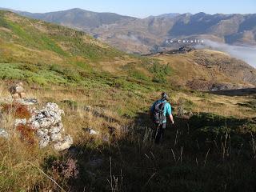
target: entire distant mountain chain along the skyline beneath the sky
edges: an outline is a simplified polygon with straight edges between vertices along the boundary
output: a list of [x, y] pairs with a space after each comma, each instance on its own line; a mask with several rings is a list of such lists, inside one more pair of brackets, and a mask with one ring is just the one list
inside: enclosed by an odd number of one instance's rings
[[202, 38], [233, 45], [256, 45], [256, 14], [187, 13], [133, 18], [81, 9], [46, 14], [14, 12], [29, 18], [84, 30], [94, 38], [130, 53], [149, 53], [175, 46], [166, 44], [166, 39], [179, 38]]

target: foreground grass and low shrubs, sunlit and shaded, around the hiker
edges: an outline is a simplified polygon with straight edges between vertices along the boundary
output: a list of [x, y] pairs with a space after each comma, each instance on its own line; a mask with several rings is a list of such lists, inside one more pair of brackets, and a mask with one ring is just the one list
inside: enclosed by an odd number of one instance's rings
[[[7, 84], [2, 84], [1, 98], [7, 95]], [[209, 94], [203, 98], [196, 92], [169, 90], [175, 126], [168, 126], [165, 141], [155, 146], [147, 109], [161, 93], [157, 90], [110, 85], [38, 86], [39, 90], [34, 90], [30, 88], [33, 86], [26, 86], [30, 96], [42, 103], [57, 102], [65, 110], [63, 122], [74, 137], [74, 146], [62, 153], [50, 148], [39, 150], [28, 140], [27, 127], [19, 128], [27, 131], [27, 142], [20, 140], [11, 123], [16, 110], [2, 106], [2, 126], [12, 134], [9, 142], [1, 139], [3, 190], [254, 190], [255, 110], [232, 104], [237, 98], [228, 98], [230, 102], [218, 106], [222, 98], [226, 102], [225, 96]], [[210, 112], [209, 108], [206, 113], [196, 102], [201, 98], [204, 103], [216, 104], [212, 109], [222, 111]], [[254, 96], [238, 98], [241, 102], [250, 99], [253, 101]], [[86, 106], [100, 109], [100, 115], [84, 110]], [[194, 115], [178, 117], [181, 106]], [[88, 134], [87, 127], [101, 135]]]

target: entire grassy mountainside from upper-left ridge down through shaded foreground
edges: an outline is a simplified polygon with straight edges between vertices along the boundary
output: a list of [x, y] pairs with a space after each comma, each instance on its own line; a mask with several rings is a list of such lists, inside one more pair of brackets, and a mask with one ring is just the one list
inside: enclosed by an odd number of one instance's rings
[[[38, 168], [66, 191], [254, 190], [254, 95], [178, 90], [170, 82], [173, 66], [120, 53], [81, 32], [1, 14], [1, 98], [9, 96], [10, 81], [26, 82], [28, 96], [38, 98], [39, 105], [57, 102], [65, 110], [65, 130], [74, 137], [73, 150], [38, 150], [20, 141], [14, 115], [4, 114], [0, 125], [12, 139], [0, 140], [1, 190], [58, 191]], [[162, 146], [154, 146], [147, 110], [162, 90], [171, 96], [176, 125], [168, 126]], [[100, 108], [102, 115], [85, 106]], [[179, 107], [194, 116], [176, 117]], [[103, 136], [113, 127], [115, 136], [103, 142], [85, 127]], [[69, 158], [77, 160], [78, 178], [65, 176], [59, 167]], [[92, 166], [95, 159], [102, 163]]]

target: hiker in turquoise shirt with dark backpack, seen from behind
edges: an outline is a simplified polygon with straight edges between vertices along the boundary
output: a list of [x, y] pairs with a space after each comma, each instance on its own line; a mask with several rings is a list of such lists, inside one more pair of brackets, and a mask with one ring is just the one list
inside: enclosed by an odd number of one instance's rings
[[170, 122], [174, 124], [174, 117], [171, 114], [171, 106], [168, 99], [168, 95], [166, 93], [162, 93], [162, 98], [154, 102], [150, 109], [151, 118], [155, 126], [154, 142], [156, 144], [162, 141], [162, 137], [166, 129], [166, 117], [169, 117]]

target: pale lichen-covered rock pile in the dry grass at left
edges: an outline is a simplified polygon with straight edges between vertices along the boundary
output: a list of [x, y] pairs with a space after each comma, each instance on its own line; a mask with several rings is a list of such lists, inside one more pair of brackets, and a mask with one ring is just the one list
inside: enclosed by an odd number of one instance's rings
[[[14, 87], [12, 88], [14, 89]], [[13, 90], [14, 91], [14, 90]], [[0, 102], [10, 104], [10, 103], [19, 103], [24, 104], [27, 107], [27, 110], [30, 116], [27, 118], [17, 118], [14, 120], [14, 127], [24, 129], [30, 127], [33, 130], [33, 137], [37, 137], [38, 145], [40, 148], [46, 146], [53, 146], [55, 150], [66, 150], [72, 143], [73, 139], [70, 135], [66, 135], [64, 131], [64, 126], [62, 124], [62, 115], [64, 111], [59, 109], [56, 103], [48, 102], [46, 106], [42, 109], [36, 109], [31, 107], [32, 104], [37, 103], [36, 99], [25, 99], [25, 98], [0, 98]], [[1, 120], [0, 114], [0, 120]], [[7, 138], [6, 130], [0, 129], [0, 137]]]

